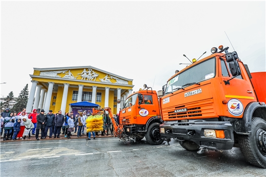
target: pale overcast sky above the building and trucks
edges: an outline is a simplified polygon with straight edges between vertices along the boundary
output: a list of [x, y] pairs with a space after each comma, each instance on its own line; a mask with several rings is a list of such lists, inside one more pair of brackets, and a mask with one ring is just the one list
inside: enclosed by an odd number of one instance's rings
[[133, 91], [158, 91], [189, 63], [183, 54], [207, 57], [219, 45], [266, 71], [265, 1], [0, 3], [1, 97], [30, 90], [33, 67], [92, 65], [133, 79]]

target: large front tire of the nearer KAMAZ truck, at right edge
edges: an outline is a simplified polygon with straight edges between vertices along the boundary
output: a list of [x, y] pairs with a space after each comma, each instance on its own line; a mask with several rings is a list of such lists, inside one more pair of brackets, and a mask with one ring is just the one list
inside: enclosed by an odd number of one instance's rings
[[252, 118], [251, 132], [251, 136], [238, 135], [239, 147], [250, 164], [266, 168], [266, 121]]

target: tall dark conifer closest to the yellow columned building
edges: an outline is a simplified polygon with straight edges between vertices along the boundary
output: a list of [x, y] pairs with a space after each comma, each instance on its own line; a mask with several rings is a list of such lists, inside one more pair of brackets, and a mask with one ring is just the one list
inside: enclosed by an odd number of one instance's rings
[[23, 108], [26, 108], [29, 98], [28, 84], [19, 93], [16, 104], [13, 106], [12, 111], [18, 113], [21, 112]]

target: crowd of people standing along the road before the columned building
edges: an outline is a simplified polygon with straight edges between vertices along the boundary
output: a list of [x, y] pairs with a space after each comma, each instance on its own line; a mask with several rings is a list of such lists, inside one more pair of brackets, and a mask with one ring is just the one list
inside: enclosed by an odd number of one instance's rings
[[[40, 139], [45, 139], [48, 136], [48, 130], [49, 138], [60, 138], [62, 133], [65, 138], [69, 139], [72, 136], [71, 132], [74, 132], [77, 133], [77, 137], [85, 136], [86, 133], [88, 140], [91, 140], [91, 132], [87, 132], [86, 129], [86, 119], [91, 115], [90, 111], [88, 114], [84, 111], [76, 115], [73, 115], [73, 112], [62, 115], [62, 111], [53, 114], [52, 110], [49, 110], [48, 114], [44, 113], [44, 110], [37, 112], [36, 109], [33, 109], [32, 113], [27, 114], [26, 108], [24, 108], [22, 112], [16, 114], [6, 108], [0, 117], [0, 133], [1, 136], [3, 134], [3, 141], [25, 140], [27, 136], [30, 139], [32, 135], [39, 140], [39, 134], [41, 135]], [[117, 120], [116, 115], [113, 117]], [[104, 136], [106, 129], [107, 122], [104, 119], [101, 136]], [[108, 131], [106, 133], [108, 135]], [[94, 139], [98, 136], [98, 132], [92, 132], [92, 134]]]

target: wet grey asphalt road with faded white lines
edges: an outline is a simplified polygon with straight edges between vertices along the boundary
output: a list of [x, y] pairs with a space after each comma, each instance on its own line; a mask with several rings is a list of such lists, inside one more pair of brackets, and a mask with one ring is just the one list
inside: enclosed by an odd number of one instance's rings
[[1, 177], [266, 177], [239, 148], [198, 154], [118, 138], [0, 143]]

